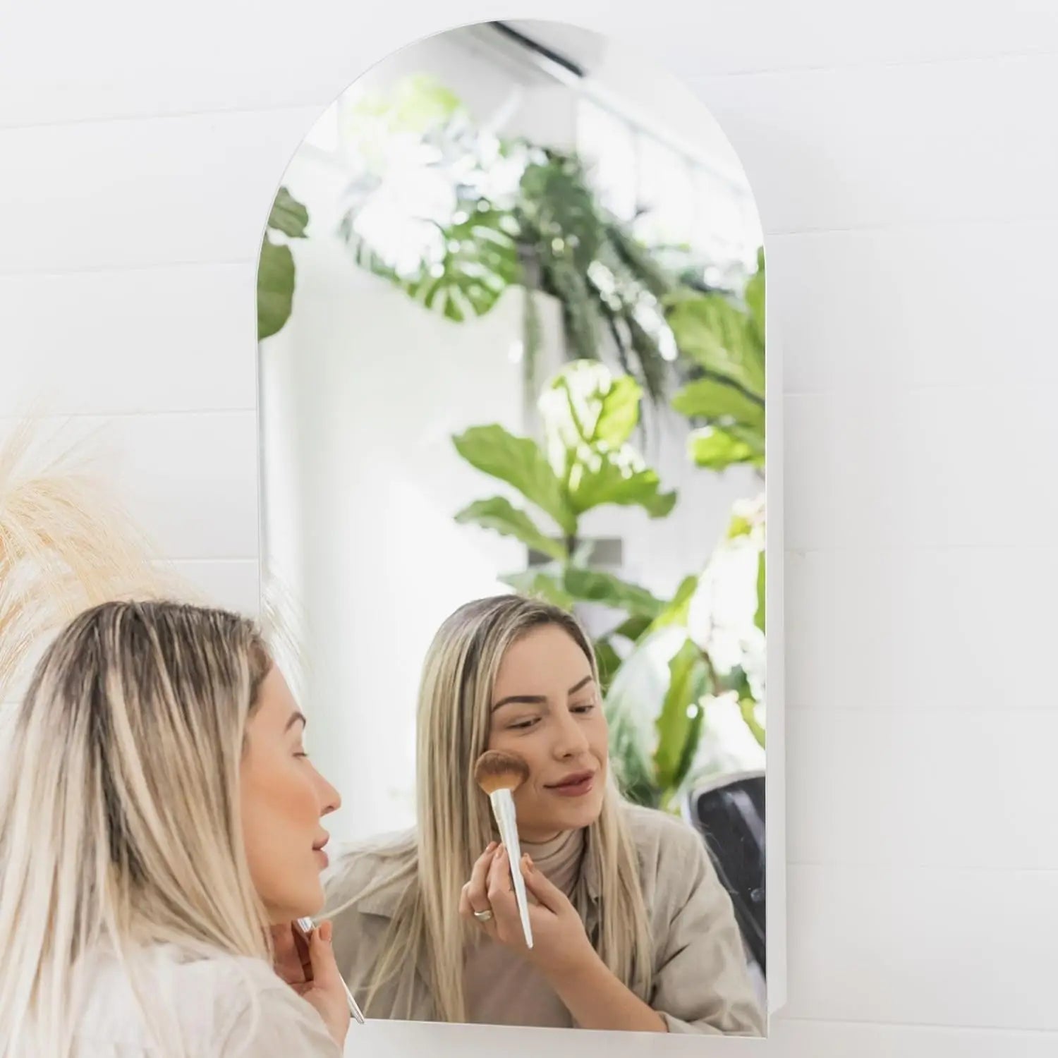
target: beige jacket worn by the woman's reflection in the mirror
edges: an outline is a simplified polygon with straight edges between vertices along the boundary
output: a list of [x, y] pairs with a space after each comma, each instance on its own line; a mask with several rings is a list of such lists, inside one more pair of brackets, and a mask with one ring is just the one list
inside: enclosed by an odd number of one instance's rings
[[[654, 938], [650, 1005], [673, 1033], [764, 1035], [764, 1018], [746, 970], [731, 898], [700, 837], [663, 813], [632, 805], [625, 811], [639, 854]], [[600, 912], [599, 887], [590, 856], [583, 862], [584, 919], [591, 935]], [[363, 892], [380, 869], [385, 867], [378, 852], [353, 849], [340, 856], [326, 879], [328, 908], [338, 908]], [[339, 969], [361, 1002], [366, 1000], [370, 973], [402, 889], [401, 882], [386, 886], [332, 916]], [[436, 1017], [421, 966], [414, 982], [395, 981], [382, 988], [376, 1004], [376, 1016], [380, 1010], [394, 1010], [400, 1011], [394, 1017], [403, 1017], [411, 1009], [415, 1021]]]

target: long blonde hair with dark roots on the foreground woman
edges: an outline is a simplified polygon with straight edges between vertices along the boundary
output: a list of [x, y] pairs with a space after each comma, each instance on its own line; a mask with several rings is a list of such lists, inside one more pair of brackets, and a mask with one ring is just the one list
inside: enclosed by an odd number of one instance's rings
[[99, 947], [127, 971], [165, 943], [269, 957], [239, 813], [269, 667], [251, 622], [172, 602], [104, 603], [48, 647], [0, 797], [0, 1055], [70, 1053]]

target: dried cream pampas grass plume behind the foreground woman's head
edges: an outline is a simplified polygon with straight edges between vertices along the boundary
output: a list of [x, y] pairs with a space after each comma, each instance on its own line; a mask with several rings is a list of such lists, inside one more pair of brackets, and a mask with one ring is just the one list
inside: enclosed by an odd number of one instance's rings
[[[48, 455], [47, 450], [56, 450]], [[93, 473], [84, 440], [22, 420], [0, 442], [0, 701], [70, 618], [112, 599], [189, 598]]]

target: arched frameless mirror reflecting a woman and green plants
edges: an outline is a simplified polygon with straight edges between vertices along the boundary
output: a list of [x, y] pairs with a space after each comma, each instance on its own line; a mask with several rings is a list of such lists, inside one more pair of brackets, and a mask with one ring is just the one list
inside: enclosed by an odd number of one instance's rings
[[700, 101], [557, 23], [405, 49], [291, 163], [258, 329], [365, 1015], [763, 1034], [764, 256]]

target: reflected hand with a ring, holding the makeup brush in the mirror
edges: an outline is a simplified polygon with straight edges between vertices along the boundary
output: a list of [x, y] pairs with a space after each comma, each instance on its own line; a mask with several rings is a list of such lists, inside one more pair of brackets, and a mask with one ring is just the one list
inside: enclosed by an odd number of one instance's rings
[[[493, 842], [478, 857], [470, 881], [463, 886], [459, 913], [494, 941], [521, 952], [546, 977], [554, 979], [577, 972], [595, 957], [581, 916], [566, 894], [552, 886], [528, 856], [522, 857], [521, 868], [530, 896], [532, 948], [527, 947], [522, 931], [511, 861], [503, 845]], [[475, 911], [490, 910], [492, 917], [487, 922], [474, 917]]]

